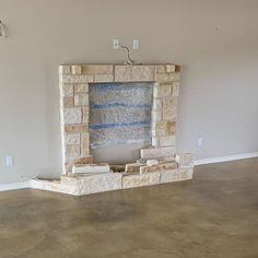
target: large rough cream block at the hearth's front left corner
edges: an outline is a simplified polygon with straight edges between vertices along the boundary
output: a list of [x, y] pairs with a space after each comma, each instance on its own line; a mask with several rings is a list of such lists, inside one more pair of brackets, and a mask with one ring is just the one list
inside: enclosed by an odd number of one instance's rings
[[121, 189], [120, 173], [105, 173], [78, 178], [78, 196]]

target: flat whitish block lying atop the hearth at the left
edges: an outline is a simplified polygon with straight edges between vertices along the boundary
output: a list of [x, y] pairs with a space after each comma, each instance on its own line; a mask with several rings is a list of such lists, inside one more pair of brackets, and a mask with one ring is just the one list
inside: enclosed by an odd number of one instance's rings
[[109, 173], [108, 164], [74, 164], [73, 174], [93, 174], [93, 173]]

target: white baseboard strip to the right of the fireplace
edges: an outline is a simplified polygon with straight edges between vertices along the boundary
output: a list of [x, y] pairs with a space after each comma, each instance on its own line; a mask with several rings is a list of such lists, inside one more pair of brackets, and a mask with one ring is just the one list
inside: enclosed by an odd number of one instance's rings
[[250, 159], [250, 157], [257, 157], [258, 152], [251, 152], [251, 153], [243, 153], [243, 154], [236, 154], [236, 155], [228, 155], [228, 156], [218, 156], [218, 157], [211, 157], [211, 159], [202, 159], [195, 161], [195, 165], [204, 165], [204, 164], [212, 164], [212, 163], [220, 163], [220, 162], [227, 162], [227, 161], [237, 161], [237, 160], [244, 160], [244, 159]]

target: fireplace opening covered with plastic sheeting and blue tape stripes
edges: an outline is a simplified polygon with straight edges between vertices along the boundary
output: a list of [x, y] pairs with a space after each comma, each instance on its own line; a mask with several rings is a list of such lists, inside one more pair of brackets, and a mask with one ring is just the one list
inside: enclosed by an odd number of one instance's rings
[[122, 164], [140, 159], [151, 145], [154, 82], [92, 83], [90, 148], [96, 162]]

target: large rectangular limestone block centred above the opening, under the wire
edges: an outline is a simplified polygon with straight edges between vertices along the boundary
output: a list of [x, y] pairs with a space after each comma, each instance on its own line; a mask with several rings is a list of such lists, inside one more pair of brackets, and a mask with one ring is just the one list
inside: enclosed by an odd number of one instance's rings
[[154, 66], [115, 66], [115, 82], [155, 81]]

